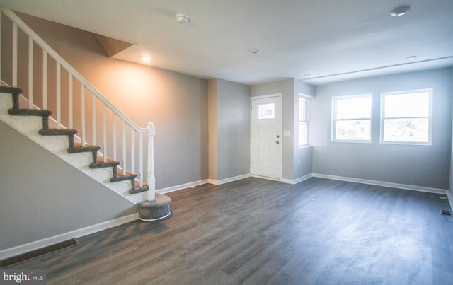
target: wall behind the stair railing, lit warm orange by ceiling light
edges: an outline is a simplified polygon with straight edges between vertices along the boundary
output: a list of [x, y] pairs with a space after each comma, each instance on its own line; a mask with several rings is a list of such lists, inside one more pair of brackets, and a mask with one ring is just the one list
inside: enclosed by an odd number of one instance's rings
[[[133, 122], [141, 127], [154, 122], [156, 190], [208, 178], [205, 79], [110, 59], [91, 33], [20, 16]], [[26, 78], [21, 80], [26, 93]]]

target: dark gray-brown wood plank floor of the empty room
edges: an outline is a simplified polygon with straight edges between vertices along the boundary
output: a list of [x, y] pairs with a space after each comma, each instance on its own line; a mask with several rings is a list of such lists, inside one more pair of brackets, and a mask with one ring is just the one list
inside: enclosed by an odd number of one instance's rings
[[47, 284], [452, 284], [440, 194], [310, 178], [169, 193], [173, 216], [79, 238], [8, 269]]

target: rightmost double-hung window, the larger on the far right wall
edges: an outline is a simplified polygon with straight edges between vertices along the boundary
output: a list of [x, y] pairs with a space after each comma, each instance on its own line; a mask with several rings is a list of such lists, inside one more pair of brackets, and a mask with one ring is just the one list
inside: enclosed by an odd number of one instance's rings
[[431, 144], [432, 89], [381, 94], [381, 142]]

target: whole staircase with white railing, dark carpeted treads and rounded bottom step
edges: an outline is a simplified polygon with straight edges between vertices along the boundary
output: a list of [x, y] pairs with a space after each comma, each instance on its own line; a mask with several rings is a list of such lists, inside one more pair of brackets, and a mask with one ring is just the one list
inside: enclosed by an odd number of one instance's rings
[[[84, 79], [77, 71], [75, 71], [67, 62], [60, 57], [55, 50], [52, 50], [38, 35], [36, 35], [33, 30], [28, 28], [20, 18], [16, 16], [12, 11], [1, 9], [2, 14], [8, 16], [11, 19], [12, 25], [12, 60], [11, 60], [11, 86], [17, 86], [18, 78], [18, 29], [21, 30], [21, 33], [28, 35], [28, 94], [27, 96], [21, 95], [23, 90], [17, 87], [9, 86], [0, 86], [0, 119], [4, 122], [10, 124], [12, 127], [15, 127], [20, 132], [27, 134], [30, 139], [35, 140], [38, 144], [45, 146], [53, 153], [60, 156], [60, 158], [66, 160], [71, 165], [74, 165], [76, 168], [83, 170], [87, 175], [95, 178], [99, 182], [102, 182], [105, 186], [109, 187], [111, 190], [117, 192], [117, 194], [122, 195], [125, 199], [129, 199], [131, 202], [137, 204], [140, 219], [143, 221], [154, 221], [159, 219], [164, 219], [167, 216], [170, 216], [170, 202], [171, 199], [165, 195], [155, 193], [155, 178], [154, 178], [154, 145], [153, 145], [153, 136], [155, 134], [154, 124], [149, 123], [146, 128], [137, 127], [129, 118], [127, 118], [120, 110], [118, 110], [112, 103], [110, 103], [107, 98], [105, 98], [99, 91], [91, 86], [86, 79]], [[57, 95], [55, 100], [57, 101], [57, 112], [56, 120], [51, 117], [52, 111], [47, 110], [47, 80], [46, 83], [43, 83], [42, 90], [43, 95], [40, 100], [41, 106], [38, 107], [35, 105], [33, 98], [33, 91], [35, 89], [35, 83], [33, 82], [33, 76], [30, 75], [33, 73], [33, 47], [38, 45], [42, 48], [42, 62], [43, 63], [43, 78], [47, 79], [47, 54], [50, 55], [52, 59], [55, 59], [57, 64], [57, 79], [55, 81]], [[1, 57], [4, 58], [5, 54], [2, 51]], [[8, 55], [6, 55], [8, 57]], [[1, 66], [2, 74], [4, 72], [4, 66]], [[64, 72], [67, 72], [69, 76], [69, 91], [67, 93], [62, 92], [62, 83], [61, 83], [61, 69]], [[3, 81], [4, 78], [1, 78]], [[76, 89], [73, 86], [73, 82], [79, 83], [81, 95], [81, 136], [77, 136], [79, 133], [78, 130], [73, 129], [73, 119], [74, 117], [74, 91]], [[44, 82], [44, 81], [43, 81]], [[93, 100], [92, 110], [85, 109], [85, 92], [88, 91], [91, 93]], [[7, 94], [11, 94], [11, 101], [6, 102], [5, 97]], [[69, 109], [69, 128], [66, 128], [62, 124], [62, 108], [61, 102], [63, 96], [68, 96], [64, 98], [69, 103], [67, 108]], [[3, 98], [2, 98], [3, 97]], [[103, 127], [101, 131], [96, 129], [96, 116], [95, 112], [98, 112], [96, 108], [96, 102], [102, 104], [103, 108], [101, 111], [101, 117], [103, 117]], [[21, 108], [20, 103], [28, 103], [28, 108]], [[8, 107], [9, 106], [9, 107]], [[92, 112], [91, 114], [88, 112]], [[113, 134], [108, 134], [107, 119], [106, 113], [111, 112], [113, 114]], [[6, 114], [7, 113], [7, 114]], [[88, 115], [86, 115], [88, 113]], [[86, 117], [91, 116], [93, 123], [91, 124], [91, 129], [86, 127], [85, 121]], [[13, 118], [30, 118], [30, 120], [23, 121], [14, 120]], [[116, 131], [116, 121], [120, 120], [122, 124], [122, 138], [117, 138]], [[35, 123], [33, 123], [35, 122]], [[50, 127], [52, 125], [52, 127]], [[127, 150], [128, 144], [125, 134], [126, 127], [129, 127], [132, 130], [132, 134], [129, 138], [130, 150]], [[86, 132], [91, 131], [93, 144], [88, 144], [88, 136]], [[101, 133], [101, 134], [98, 134]], [[148, 148], [147, 155], [143, 150], [143, 134], [147, 134], [148, 138]], [[48, 137], [48, 138], [58, 138], [55, 140], [48, 139], [43, 141], [39, 138]], [[96, 145], [96, 137], [103, 137], [103, 147]], [[137, 136], [139, 140], [138, 151], [135, 151], [135, 137]], [[65, 139], [67, 137], [67, 140]], [[109, 142], [111, 149], [108, 149], [107, 137], [113, 137], [113, 142]], [[61, 138], [64, 138], [62, 141]], [[117, 143], [117, 141], [120, 141]], [[117, 151], [117, 144], [122, 145], [122, 151]], [[103, 153], [101, 153], [101, 149]], [[64, 155], [66, 153], [66, 155]], [[120, 153], [120, 154], [117, 154]], [[130, 153], [130, 154], [128, 154]], [[108, 158], [108, 155], [112, 155], [113, 158]], [[122, 161], [116, 159], [119, 156], [122, 158]], [[139, 163], [135, 162], [135, 158], [138, 158]], [[147, 176], [146, 182], [144, 182], [144, 173], [143, 164], [144, 158], [147, 157]], [[129, 165], [126, 165], [126, 161], [130, 161]], [[135, 165], [138, 165], [139, 174], [134, 173]], [[97, 171], [96, 171], [97, 170]], [[108, 170], [108, 171], [105, 171]], [[107, 177], [108, 175], [108, 177]], [[125, 185], [126, 189], [125, 189]], [[148, 194], [148, 195], [146, 195]]]

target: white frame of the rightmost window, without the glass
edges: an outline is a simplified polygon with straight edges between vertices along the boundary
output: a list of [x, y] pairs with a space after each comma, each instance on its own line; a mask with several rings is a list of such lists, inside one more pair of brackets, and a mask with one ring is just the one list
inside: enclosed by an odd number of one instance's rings
[[[385, 98], [391, 95], [403, 95], [413, 93], [429, 93], [429, 108], [428, 116], [419, 117], [393, 117], [394, 119], [416, 119], [416, 118], [428, 118], [428, 141], [384, 141], [384, 122], [386, 119], [392, 119], [392, 117], [385, 117]], [[395, 91], [395, 92], [383, 92], [381, 93], [381, 144], [411, 144], [411, 145], [424, 145], [430, 146], [432, 144], [432, 88], [416, 89], [408, 91]]]

